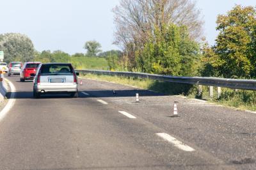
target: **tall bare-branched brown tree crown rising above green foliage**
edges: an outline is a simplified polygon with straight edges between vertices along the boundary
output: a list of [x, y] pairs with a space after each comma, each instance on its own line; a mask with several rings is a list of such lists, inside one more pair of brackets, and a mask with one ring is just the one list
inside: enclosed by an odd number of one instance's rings
[[129, 54], [134, 64], [135, 51], [143, 48], [155, 27], [165, 25], [186, 26], [189, 38], [196, 40], [202, 35], [204, 22], [195, 1], [189, 0], [120, 0], [115, 13], [115, 43]]

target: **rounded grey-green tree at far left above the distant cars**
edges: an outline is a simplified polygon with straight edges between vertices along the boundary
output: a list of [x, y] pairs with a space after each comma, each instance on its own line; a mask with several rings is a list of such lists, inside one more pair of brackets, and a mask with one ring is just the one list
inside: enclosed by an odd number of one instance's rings
[[4, 51], [4, 61], [32, 61], [34, 59], [34, 45], [26, 35], [6, 33], [0, 35], [0, 50]]

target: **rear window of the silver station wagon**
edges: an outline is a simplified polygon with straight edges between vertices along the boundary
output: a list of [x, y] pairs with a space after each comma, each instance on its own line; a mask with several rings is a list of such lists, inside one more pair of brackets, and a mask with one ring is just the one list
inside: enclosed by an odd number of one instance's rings
[[71, 65], [42, 65], [41, 75], [73, 75]]

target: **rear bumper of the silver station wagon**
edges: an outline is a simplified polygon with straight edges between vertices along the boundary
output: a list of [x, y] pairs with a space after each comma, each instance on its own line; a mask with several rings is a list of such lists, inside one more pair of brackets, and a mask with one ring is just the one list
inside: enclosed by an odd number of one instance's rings
[[76, 92], [77, 84], [63, 85], [63, 86], [36, 84], [35, 89], [37, 92], [44, 91], [45, 93], [47, 93], [47, 92]]

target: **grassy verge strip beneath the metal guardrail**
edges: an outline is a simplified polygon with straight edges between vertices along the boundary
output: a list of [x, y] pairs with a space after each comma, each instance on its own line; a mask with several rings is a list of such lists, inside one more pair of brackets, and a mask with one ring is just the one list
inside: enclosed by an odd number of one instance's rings
[[256, 91], [221, 88], [221, 97], [217, 99], [216, 88], [214, 88], [214, 98], [209, 97], [209, 87], [203, 86], [203, 93], [198, 96], [198, 89], [195, 85], [179, 84], [172, 82], [160, 82], [150, 79], [139, 79], [132, 77], [117, 77], [109, 75], [86, 74], [82, 77], [96, 79], [101, 81], [116, 82], [129, 86], [135, 86], [141, 89], [148, 89], [167, 95], [184, 95], [188, 98], [199, 98], [211, 102], [216, 102], [228, 107], [236, 107], [242, 110], [256, 111]]

